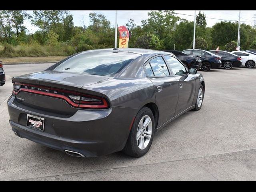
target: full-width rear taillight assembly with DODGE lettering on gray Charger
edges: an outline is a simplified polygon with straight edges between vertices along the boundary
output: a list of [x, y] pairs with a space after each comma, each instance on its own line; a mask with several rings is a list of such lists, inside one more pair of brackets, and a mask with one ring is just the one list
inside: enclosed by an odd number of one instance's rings
[[14, 83], [13, 91], [14, 95], [18, 95], [19, 92], [30, 92], [34, 94], [40, 94], [59, 98], [65, 100], [72, 107], [76, 108], [90, 108], [90, 109], [104, 109], [109, 108], [109, 104], [105, 98], [80, 94], [79, 92], [62, 90], [52, 87], [44, 87], [31, 84]]

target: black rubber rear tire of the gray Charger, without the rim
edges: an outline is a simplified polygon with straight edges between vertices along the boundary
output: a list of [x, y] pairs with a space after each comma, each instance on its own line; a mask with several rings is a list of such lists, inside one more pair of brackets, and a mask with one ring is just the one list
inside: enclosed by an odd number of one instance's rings
[[[136, 136], [137, 136], [137, 130], [138, 130], [138, 126], [139, 126], [140, 120], [144, 116], [149, 116], [151, 118], [151, 121], [152, 121], [152, 134], [151, 134], [150, 141], [149, 141], [148, 145], [146, 146], [146, 148], [140, 149], [138, 147]], [[125, 154], [127, 154], [129, 156], [133, 156], [133, 157], [141, 157], [141, 156], [143, 156], [150, 149], [150, 146], [151, 146], [151, 144], [153, 142], [154, 134], [155, 134], [154, 115], [153, 115], [152, 111], [150, 110], [150, 108], [143, 107], [142, 109], [140, 109], [140, 111], [138, 112], [138, 114], [136, 115], [136, 117], [134, 119], [134, 123], [132, 125], [132, 129], [130, 131], [130, 134], [129, 134], [128, 140], [126, 142], [126, 145], [125, 145], [125, 147], [123, 149], [123, 152]]]

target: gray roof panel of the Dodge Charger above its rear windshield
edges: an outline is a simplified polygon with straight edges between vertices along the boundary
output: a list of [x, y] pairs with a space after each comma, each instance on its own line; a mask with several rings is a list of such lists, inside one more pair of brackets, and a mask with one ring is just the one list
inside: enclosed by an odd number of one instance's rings
[[134, 54], [149, 54], [149, 53], [165, 53], [163, 51], [158, 51], [158, 50], [152, 50], [152, 49], [140, 49], [140, 48], [107, 48], [107, 49], [94, 49], [94, 50], [88, 50], [88, 51], [83, 51], [83, 52], [89, 52], [89, 51], [116, 51], [116, 52], [128, 52], [128, 53], [134, 53]]

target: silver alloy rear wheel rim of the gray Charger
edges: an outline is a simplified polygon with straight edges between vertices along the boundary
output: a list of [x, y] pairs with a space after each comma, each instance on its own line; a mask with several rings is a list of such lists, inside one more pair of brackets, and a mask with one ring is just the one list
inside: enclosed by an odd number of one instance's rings
[[152, 120], [150, 116], [145, 115], [141, 118], [137, 128], [137, 145], [140, 150], [145, 149], [150, 142], [152, 135]]

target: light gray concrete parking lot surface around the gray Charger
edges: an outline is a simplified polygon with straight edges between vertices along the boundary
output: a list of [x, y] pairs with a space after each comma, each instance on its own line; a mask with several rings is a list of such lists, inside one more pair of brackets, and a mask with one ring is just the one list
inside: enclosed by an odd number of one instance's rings
[[12, 76], [50, 65], [4, 65], [0, 180], [256, 180], [256, 68], [198, 71], [206, 82], [202, 109], [162, 128], [145, 156], [76, 158], [15, 136], [8, 122]]

